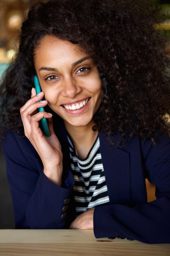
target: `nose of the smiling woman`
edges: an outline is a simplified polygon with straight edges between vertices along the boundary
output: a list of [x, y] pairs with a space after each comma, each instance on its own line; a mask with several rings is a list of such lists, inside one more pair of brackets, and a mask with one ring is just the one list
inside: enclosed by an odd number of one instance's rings
[[78, 85], [78, 82], [73, 77], [65, 78], [63, 83], [62, 94], [65, 97], [74, 98], [82, 90], [81, 86]]

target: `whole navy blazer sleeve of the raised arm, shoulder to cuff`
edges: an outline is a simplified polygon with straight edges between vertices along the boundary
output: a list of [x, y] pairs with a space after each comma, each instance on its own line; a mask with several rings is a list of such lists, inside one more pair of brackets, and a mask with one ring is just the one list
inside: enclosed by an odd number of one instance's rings
[[[44, 175], [38, 154], [26, 139], [7, 133], [2, 141], [7, 165], [16, 228], [60, 229], [66, 227], [74, 180], [60, 187]], [[23, 152], [24, 151], [24, 152]], [[67, 209], [67, 210], [66, 210]]]

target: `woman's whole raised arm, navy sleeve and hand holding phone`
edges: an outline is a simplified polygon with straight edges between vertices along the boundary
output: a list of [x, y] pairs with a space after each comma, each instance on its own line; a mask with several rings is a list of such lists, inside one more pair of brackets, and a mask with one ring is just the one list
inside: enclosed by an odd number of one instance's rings
[[[47, 104], [39, 102], [43, 95], [35, 95], [32, 89], [31, 99], [20, 109], [27, 139], [8, 133], [3, 143], [16, 227], [20, 228], [64, 228], [64, 205], [73, 185], [73, 180], [68, 189], [62, 184], [62, 150], [52, 115], [37, 112]], [[39, 127], [43, 117], [49, 119], [50, 137], [45, 137]]]

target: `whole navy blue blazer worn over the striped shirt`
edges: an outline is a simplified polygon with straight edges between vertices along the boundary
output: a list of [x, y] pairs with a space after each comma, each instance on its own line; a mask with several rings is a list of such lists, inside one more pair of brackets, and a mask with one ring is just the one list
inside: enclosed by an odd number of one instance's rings
[[[30, 141], [8, 132], [2, 141], [15, 225], [18, 229], [64, 229], [75, 219], [74, 178], [63, 121], [54, 125], [63, 152], [63, 182], [57, 186], [43, 172]], [[114, 135], [114, 140], [119, 135]], [[144, 243], [170, 243], [170, 138], [152, 146], [134, 137], [118, 148], [99, 132], [110, 203], [95, 207], [96, 238], [122, 236]], [[147, 203], [145, 178], [156, 184], [157, 200]]]

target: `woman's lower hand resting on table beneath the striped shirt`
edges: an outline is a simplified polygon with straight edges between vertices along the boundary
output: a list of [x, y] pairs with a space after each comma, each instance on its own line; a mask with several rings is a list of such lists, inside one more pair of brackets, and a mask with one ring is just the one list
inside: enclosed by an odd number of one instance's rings
[[70, 229], [93, 229], [93, 214], [95, 208], [80, 214], [70, 225]]

